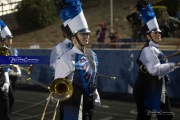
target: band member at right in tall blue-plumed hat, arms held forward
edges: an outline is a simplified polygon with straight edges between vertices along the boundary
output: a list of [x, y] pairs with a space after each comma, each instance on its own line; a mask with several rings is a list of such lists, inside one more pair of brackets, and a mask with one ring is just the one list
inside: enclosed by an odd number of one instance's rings
[[137, 120], [150, 120], [152, 114], [156, 114], [158, 120], [171, 120], [173, 113], [166, 90], [169, 82], [167, 74], [179, 66], [167, 60], [162, 61], [164, 55], [159, 49], [161, 30], [151, 5], [145, 0], [139, 0], [137, 8], [149, 28], [147, 43], [137, 58], [140, 70], [133, 91]]

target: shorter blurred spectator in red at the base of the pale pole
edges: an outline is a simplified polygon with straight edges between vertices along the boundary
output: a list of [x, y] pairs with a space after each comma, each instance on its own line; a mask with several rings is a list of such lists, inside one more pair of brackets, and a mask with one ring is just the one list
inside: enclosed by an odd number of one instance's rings
[[112, 32], [109, 34], [109, 39], [110, 39], [110, 43], [112, 43], [110, 45], [111, 48], [118, 48], [118, 34], [117, 32]]

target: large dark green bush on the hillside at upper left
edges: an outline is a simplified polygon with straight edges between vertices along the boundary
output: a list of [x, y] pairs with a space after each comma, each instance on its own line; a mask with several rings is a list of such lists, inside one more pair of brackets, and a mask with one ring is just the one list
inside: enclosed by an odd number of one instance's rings
[[17, 9], [16, 21], [27, 30], [48, 26], [57, 18], [54, 0], [22, 0]]

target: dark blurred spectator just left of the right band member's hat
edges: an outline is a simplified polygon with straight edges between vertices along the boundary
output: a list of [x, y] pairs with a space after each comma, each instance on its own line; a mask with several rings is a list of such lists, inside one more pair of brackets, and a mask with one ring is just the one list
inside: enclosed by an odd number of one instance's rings
[[131, 12], [129, 15], [127, 15], [126, 19], [132, 27], [132, 39], [134, 42], [137, 42], [142, 27], [141, 14], [137, 10], [135, 10]]

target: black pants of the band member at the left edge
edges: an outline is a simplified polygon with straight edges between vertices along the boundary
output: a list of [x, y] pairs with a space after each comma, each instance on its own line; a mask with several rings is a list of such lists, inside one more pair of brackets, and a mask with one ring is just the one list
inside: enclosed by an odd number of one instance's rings
[[[0, 85], [2, 87], [3, 84]], [[11, 120], [9, 110], [9, 97], [8, 93], [0, 88], [0, 120]]]

